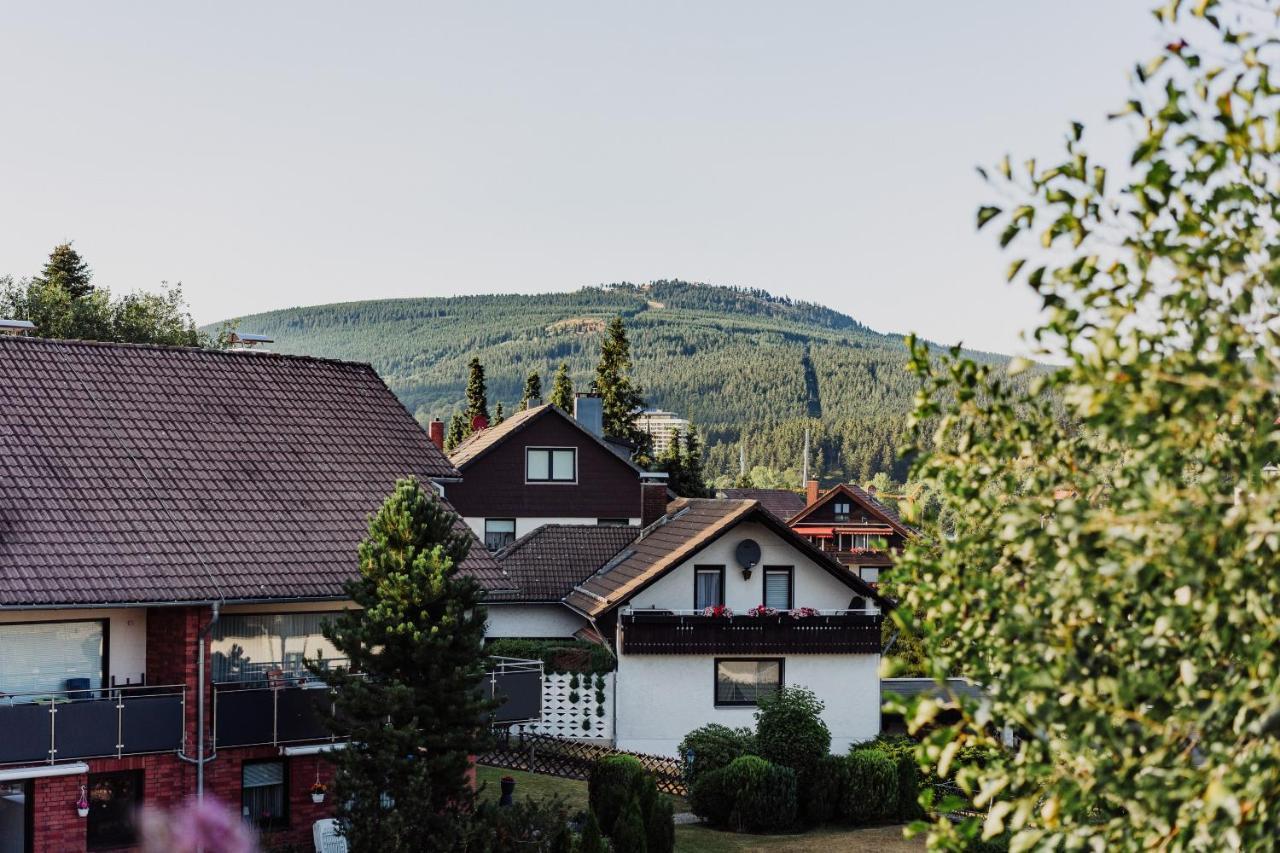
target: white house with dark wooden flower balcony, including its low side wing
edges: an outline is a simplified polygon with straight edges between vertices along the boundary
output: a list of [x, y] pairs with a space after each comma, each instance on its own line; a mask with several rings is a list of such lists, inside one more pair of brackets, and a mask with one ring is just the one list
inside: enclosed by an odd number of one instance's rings
[[836, 752], [879, 733], [879, 597], [756, 501], [678, 500], [634, 535], [549, 526], [498, 558], [525, 592], [492, 601], [490, 637], [612, 642], [621, 749], [753, 725], [780, 685], [826, 703]]

